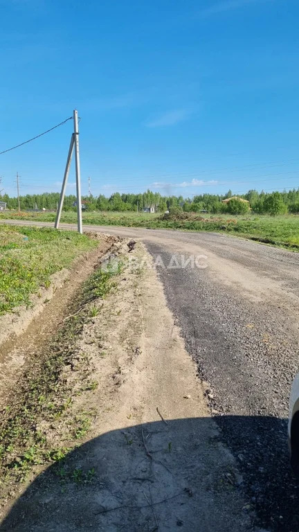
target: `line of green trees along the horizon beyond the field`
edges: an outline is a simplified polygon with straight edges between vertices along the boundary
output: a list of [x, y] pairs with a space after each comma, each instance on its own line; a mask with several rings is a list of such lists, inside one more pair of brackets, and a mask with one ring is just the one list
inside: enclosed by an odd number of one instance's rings
[[[141, 211], [144, 207], [154, 206], [156, 211], [165, 212], [170, 209], [178, 209], [185, 212], [208, 213], [231, 213], [242, 214], [249, 209], [257, 214], [284, 214], [299, 213], [299, 188], [284, 190], [283, 192], [266, 193], [257, 192], [251, 189], [247, 193], [239, 195], [246, 199], [246, 202], [231, 199], [227, 204], [222, 203], [223, 199], [232, 197], [231, 190], [224, 195], [219, 194], [199, 194], [192, 199], [183, 196], [163, 196], [158, 192], [147, 190], [140, 194], [120, 194], [118, 192], [109, 197], [105, 195], [82, 196], [82, 201], [87, 211]], [[55, 211], [59, 202], [59, 193], [27, 194], [20, 196], [20, 206], [22, 211], [33, 209], [46, 209]], [[75, 210], [75, 195], [67, 195], [64, 199], [64, 210]], [[10, 197], [8, 194], [0, 195], [0, 201], [6, 202], [8, 209], [17, 209], [17, 197]]]

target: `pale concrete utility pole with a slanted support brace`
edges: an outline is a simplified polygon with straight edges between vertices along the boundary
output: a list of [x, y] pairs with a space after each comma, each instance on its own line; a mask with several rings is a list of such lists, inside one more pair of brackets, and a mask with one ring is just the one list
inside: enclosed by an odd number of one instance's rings
[[56, 220], [54, 227], [58, 229], [60, 224], [60, 217], [62, 213], [62, 206], [64, 202], [64, 195], [66, 191], [66, 184], [69, 177], [69, 170], [71, 168], [71, 158], [75, 148], [75, 172], [76, 172], [76, 189], [77, 189], [77, 219], [78, 219], [78, 233], [82, 233], [82, 200], [81, 200], [81, 176], [80, 176], [80, 152], [79, 152], [79, 127], [78, 127], [78, 111], [73, 112], [73, 127], [74, 131], [71, 136], [69, 145], [69, 153], [66, 159], [66, 167], [64, 170], [64, 179], [62, 181], [62, 190], [60, 193], [60, 202], [57, 208]]

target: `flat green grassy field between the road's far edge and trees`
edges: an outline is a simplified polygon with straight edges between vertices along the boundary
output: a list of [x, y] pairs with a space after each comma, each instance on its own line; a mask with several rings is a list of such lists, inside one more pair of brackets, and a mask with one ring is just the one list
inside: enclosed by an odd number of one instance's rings
[[[217, 231], [235, 234], [299, 250], [299, 216], [284, 215], [271, 218], [264, 215], [199, 215], [181, 213], [176, 216], [147, 213], [95, 212], [82, 213], [83, 223], [90, 225], [120, 225], [125, 227], [149, 227], [151, 229], [181, 229], [185, 231]], [[0, 213], [1, 218], [54, 222], [55, 213]], [[62, 214], [61, 221], [75, 223], [76, 213]]]

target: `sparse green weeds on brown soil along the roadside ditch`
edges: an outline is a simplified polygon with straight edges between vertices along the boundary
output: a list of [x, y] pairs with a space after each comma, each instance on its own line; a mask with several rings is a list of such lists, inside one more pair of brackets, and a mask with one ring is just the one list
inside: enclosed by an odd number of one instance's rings
[[[93, 366], [89, 357], [75, 348], [75, 342], [89, 323], [89, 306], [86, 303], [96, 299], [97, 287], [102, 297], [115, 288], [114, 277], [121, 269], [101, 269], [84, 283], [73, 300], [69, 312], [72, 317], [57, 330], [53, 339], [44, 345], [18, 380], [18, 386], [10, 393], [10, 403], [0, 411], [0, 488], [26, 479], [28, 471], [36, 464], [62, 463], [68, 457], [71, 447], [57, 447], [57, 438], [62, 444], [67, 440], [73, 444], [84, 438], [91, 428], [96, 410], [73, 411], [73, 396], [76, 395], [74, 381], [62, 378], [66, 366], [77, 373], [77, 384], [85, 378], [92, 378]], [[76, 312], [80, 309], [80, 312]], [[82, 389], [91, 393], [98, 382], [89, 380]], [[68, 428], [66, 428], [68, 427]], [[66, 432], [64, 433], [64, 431]], [[42, 432], [41, 432], [42, 431]], [[55, 431], [56, 438], [53, 438]], [[55, 445], [54, 445], [55, 443]], [[61, 475], [64, 472], [60, 469]], [[95, 472], [89, 470], [84, 481], [91, 481]], [[76, 474], [75, 474], [76, 475]], [[81, 480], [81, 474], [75, 480]], [[3, 497], [3, 494], [1, 494]]]

